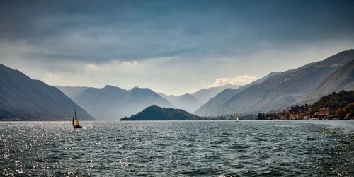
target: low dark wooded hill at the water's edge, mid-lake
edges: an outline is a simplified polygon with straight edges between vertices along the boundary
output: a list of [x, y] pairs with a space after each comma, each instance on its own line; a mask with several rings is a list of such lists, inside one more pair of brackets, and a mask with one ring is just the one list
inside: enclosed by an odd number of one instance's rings
[[156, 105], [149, 106], [129, 118], [121, 120], [197, 120], [198, 116], [190, 114], [185, 110], [173, 108], [161, 108]]

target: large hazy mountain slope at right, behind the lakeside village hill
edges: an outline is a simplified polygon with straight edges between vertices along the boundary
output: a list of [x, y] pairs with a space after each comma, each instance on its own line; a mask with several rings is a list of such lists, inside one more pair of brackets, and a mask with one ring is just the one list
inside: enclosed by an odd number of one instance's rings
[[[285, 108], [300, 100], [309, 101], [304, 99], [307, 93], [316, 92], [319, 85], [326, 83], [326, 80], [332, 81], [329, 78], [335, 74], [337, 69], [341, 67], [346, 69], [346, 66], [353, 65], [350, 63], [352, 59], [354, 59], [354, 50], [346, 50], [320, 62], [306, 64], [286, 72], [278, 72], [263, 79], [261, 83], [251, 84], [246, 88], [225, 90], [227, 94], [219, 93], [195, 113], [197, 115], [229, 115], [268, 112]], [[345, 81], [346, 86], [350, 87], [353, 80], [350, 80], [350, 76], [347, 79], [349, 80]], [[341, 87], [341, 84], [338, 86]], [[326, 88], [329, 87], [326, 86]]]

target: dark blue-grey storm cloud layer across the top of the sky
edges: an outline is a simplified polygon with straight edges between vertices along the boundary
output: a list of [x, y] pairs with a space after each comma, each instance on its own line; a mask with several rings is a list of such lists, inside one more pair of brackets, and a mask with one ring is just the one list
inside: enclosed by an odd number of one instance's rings
[[0, 1], [0, 40], [45, 59], [246, 55], [354, 40], [354, 1]]

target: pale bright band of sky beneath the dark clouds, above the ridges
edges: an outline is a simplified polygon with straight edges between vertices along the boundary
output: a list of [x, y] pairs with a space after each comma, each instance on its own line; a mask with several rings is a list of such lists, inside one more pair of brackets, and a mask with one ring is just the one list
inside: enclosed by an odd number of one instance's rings
[[[0, 63], [50, 85], [103, 87], [110, 84], [123, 89], [138, 85], [161, 93], [182, 95], [210, 86], [246, 84], [247, 80], [242, 83], [242, 80], [225, 76], [242, 76], [252, 71], [251, 75], [259, 79], [270, 72], [326, 59], [341, 50], [353, 48], [353, 44], [353, 41], [329, 41], [312, 46], [289, 46], [286, 50], [276, 48], [219, 57], [178, 55], [83, 61], [71, 56], [58, 57], [52, 50], [32, 45], [27, 40], [0, 40]], [[50, 56], [57, 58], [49, 59]]]

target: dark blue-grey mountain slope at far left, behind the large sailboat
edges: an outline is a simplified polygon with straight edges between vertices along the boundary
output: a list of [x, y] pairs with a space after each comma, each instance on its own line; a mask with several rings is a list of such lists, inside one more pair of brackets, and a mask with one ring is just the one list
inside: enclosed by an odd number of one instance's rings
[[0, 120], [94, 120], [62, 91], [0, 64]]

